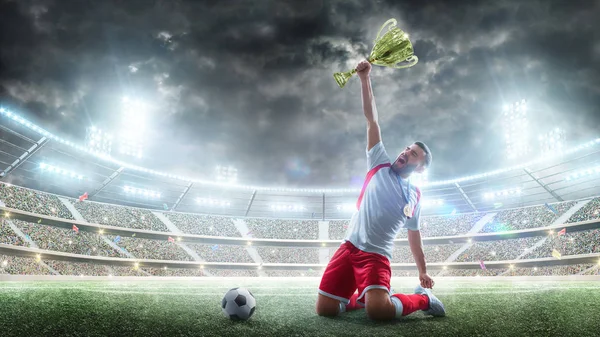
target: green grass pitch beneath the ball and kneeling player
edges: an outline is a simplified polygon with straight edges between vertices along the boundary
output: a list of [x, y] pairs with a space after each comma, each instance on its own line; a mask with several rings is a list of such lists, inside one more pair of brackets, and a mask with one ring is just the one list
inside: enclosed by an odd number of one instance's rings
[[[437, 279], [447, 317], [376, 323], [365, 312], [314, 313], [316, 278], [0, 282], [0, 336], [600, 336], [600, 282]], [[250, 289], [254, 316], [220, 310]], [[392, 287], [412, 292], [413, 278]]]

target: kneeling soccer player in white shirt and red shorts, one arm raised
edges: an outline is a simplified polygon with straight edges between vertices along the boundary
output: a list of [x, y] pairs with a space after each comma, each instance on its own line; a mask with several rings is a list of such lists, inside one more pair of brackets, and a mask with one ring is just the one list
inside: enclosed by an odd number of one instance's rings
[[[356, 67], [367, 118], [368, 174], [358, 198], [349, 234], [335, 252], [321, 279], [316, 311], [320, 316], [366, 308], [374, 320], [391, 320], [423, 310], [444, 316], [442, 302], [431, 293], [435, 284], [427, 274], [419, 232], [421, 192], [408, 180], [431, 165], [431, 151], [421, 143], [407, 146], [392, 163], [381, 142], [377, 109], [371, 89], [371, 64]], [[414, 294], [393, 294], [390, 260], [394, 239], [408, 229], [408, 243], [419, 269], [421, 284]], [[358, 292], [356, 292], [358, 290]]]

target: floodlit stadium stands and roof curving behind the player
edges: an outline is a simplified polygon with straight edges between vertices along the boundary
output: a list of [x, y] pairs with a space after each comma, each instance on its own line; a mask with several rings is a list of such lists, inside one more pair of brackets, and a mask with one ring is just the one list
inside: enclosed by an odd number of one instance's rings
[[[291, 285], [295, 290], [287, 295], [297, 292], [298, 301], [305, 301], [348, 230], [348, 211], [359, 192], [175, 177], [117, 163], [48, 133], [16, 112], [1, 112], [1, 161], [7, 167], [2, 176], [22, 184], [0, 185], [1, 277], [66, 282], [6, 286], [5, 292], [68, 285], [94, 300], [100, 293], [175, 291], [179, 293], [171, 295], [185, 296], [200, 291], [197, 295], [218, 303], [225, 284], [243, 284], [255, 289], [260, 308], [261, 302], [269, 305], [278, 287]], [[472, 177], [422, 182], [423, 193], [431, 195], [424, 203], [434, 200], [424, 208], [422, 220], [428, 269], [441, 287], [449, 287], [443, 288], [447, 296], [469, 296], [458, 290], [464, 284], [492, 287], [496, 296], [520, 291], [559, 296], [597, 282], [598, 147], [600, 139], [595, 139], [565, 151], [560, 160], [540, 158]], [[64, 169], [67, 163], [88, 168], [89, 176], [79, 178]], [[39, 190], [41, 183], [45, 191]], [[131, 197], [135, 189], [141, 198]], [[218, 193], [224, 202], [199, 202], [207, 191]], [[404, 287], [417, 276], [405, 235], [397, 238], [392, 260], [393, 276]], [[552, 283], [548, 277], [562, 281]], [[118, 281], [144, 278], [166, 283], [142, 282], [136, 288], [143, 290], [136, 292]], [[172, 290], [170, 285], [180, 278], [190, 282]], [[541, 280], [530, 283], [532, 278]], [[99, 280], [109, 283], [92, 282]], [[198, 284], [203, 286], [196, 288]], [[310, 312], [312, 305], [306, 304]], [[210, 316], [207, 307], [205, 315]], [[259, 309], [255, 320], [261, 315]], [[215, 334], [230, 328], [214, 324], [209, 329]], [[262, 328], [255, 332], [261, 334]], [[297, 328], [279, 327], [273, 333]], [[456, 333], [460, 329], [453, 327]]]

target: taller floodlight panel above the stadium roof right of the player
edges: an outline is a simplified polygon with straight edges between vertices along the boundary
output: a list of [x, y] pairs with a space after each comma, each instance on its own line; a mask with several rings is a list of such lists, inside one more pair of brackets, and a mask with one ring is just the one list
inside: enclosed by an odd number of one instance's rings
[[509, 159], [527, 154], [529, 147], [529, 122], [527, 120], [527, 101], [520, 100], [503, 109], [503, 129], [506, 153]]

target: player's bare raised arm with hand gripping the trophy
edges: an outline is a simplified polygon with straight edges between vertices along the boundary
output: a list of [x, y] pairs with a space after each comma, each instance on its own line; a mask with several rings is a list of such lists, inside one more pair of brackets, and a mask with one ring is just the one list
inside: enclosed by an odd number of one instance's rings
[[367, 61], [362, 61], [356, 67], [356, 73], [360, 78], [363, 113], [367, 118], [367, 150], [371, 150], [373, 146], [381, 141], [381, 131], [379, 130], [377, 107], [375, 106], [375, 97], [371, 88], [371, 64]]

